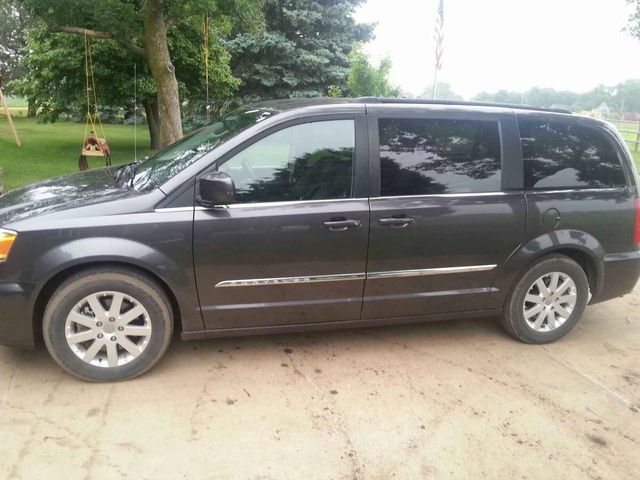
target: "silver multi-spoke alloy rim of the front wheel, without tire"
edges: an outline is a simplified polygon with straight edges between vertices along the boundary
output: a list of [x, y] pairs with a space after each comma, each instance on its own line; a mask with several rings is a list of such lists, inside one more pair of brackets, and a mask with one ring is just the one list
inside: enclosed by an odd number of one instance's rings
[[151, 339], [151, 319], [135, 298], [98, 292], [80, 300], [67, 316], [71, 351], [96, 367], [119, 367], [140, 356]]

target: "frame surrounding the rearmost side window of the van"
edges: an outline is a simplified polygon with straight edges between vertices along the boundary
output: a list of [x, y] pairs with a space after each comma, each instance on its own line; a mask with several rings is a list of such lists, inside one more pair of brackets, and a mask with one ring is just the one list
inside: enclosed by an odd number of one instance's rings
[[[634, 185], [635, 174], [631, 171], [631, 167], [629, 165], [629, 161], [627, 159], [627, 155], [620, 146], [618, 140], [609, 132], [606, 128], [600, 127], [593, 123], [593, 120], [581, 117], [571, 116], [557, 116], [557, 117], [549, 117], [548, 115], [541, 115], [536, 112], [518, 112], [516, 115], [516, 127], [518, 129], [518, 143], [520, 144], [521, 158], [522, 158], [522, 189], [524, 192], [529, 194], [544, 194], [544, 193], [555, 193], [555, 192], [581, 192], [581, 191], [622, 191], [627, 190], [630, 185]], [[593, 130], [598, 132], [602, 137], [604, 137], [605, 141], [609, 142], [613, 150], [616, 152], [616, 156], [618, 158], [618, 162], [620, 163], [620, 167], [622, 168], [622, 173], [625, 178], [625, 184], [619, 185], [616, 187], [548, 187], [548, 188], [525, 188], [524, 185], [524, 152], [522, 149], [522, 136], [520, 133], [520, 121], [531, 121], [531, 122], [551, 122], [557, 123], [561, 125], [569, 125], [569, 126], [579, 126], [585, 129]]]

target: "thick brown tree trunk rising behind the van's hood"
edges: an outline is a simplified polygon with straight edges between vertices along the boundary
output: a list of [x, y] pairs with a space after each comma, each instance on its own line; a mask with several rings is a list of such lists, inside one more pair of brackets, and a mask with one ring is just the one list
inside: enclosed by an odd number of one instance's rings
[[163, 0], [147, 0], [143, 5], [144, 47], [158, 92], [162, 145], [167, 146], [182, 138], [178, 81], [169, 55]]

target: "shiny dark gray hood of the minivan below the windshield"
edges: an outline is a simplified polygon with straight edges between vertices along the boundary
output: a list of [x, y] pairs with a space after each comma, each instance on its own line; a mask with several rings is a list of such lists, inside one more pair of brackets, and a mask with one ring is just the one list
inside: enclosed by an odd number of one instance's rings
[[0, 196], [0, 226], [35, 215], [108, 202], [131, 192], [116, 187], [114, 168], [53, 178]]

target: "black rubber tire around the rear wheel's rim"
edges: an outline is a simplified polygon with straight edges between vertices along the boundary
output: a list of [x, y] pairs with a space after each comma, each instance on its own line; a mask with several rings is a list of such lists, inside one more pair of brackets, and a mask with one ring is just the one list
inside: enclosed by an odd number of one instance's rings
[[[552, 272], [568, 275], [575, 284], [576, 302], [571, 315], [564, 323], [551, 331], [537, 331], [525, 320], [523, 307], [525, 297], [534, 282]], [[502, 315], [502, 324], [512, 336], [526, 343], [549, 343], [567, 334], [580, 320], [589, 301], [589, 281], [580, 265], [564, 255], [544, 257], [520, 278], [507, 299]]]

